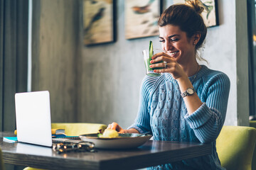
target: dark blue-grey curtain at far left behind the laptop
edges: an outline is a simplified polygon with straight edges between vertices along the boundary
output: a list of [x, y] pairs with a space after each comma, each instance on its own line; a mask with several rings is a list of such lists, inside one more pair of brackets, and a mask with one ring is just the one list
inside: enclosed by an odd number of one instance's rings
[[0, 129], [13, 131], [16, 92], [27, 91], [28, 0], [0, 0]]

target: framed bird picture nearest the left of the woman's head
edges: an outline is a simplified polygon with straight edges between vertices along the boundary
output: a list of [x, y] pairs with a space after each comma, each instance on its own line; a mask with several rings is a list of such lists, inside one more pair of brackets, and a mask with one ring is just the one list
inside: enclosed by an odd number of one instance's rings
[[125, 0], [125, 38], [159, 35], [161, 0]]

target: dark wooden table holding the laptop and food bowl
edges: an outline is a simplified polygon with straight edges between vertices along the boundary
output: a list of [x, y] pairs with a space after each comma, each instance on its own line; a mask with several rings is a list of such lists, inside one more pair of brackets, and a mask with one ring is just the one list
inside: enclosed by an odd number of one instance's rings
[[3, 142], [10, 134], [0, 132], [4, 163], [41, 169], [140, 169], [211, 153], [210, 144], [150, 140], [137, 149], [57, 154], [50, 147]]

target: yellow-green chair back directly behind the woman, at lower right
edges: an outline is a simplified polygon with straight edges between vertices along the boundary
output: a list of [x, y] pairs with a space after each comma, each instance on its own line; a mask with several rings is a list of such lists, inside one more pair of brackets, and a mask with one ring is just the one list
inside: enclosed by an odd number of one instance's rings
[[221, 165], [228, 170], [251, 169], [255, 142], [255, 128], [223, 126], [216, 140], [216, 149]]

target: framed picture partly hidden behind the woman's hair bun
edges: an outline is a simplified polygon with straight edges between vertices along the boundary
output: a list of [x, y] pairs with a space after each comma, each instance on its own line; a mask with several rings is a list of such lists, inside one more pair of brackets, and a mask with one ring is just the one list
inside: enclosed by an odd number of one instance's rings
[[[184, 3], [187, 0], [174, 0], [174, 4]], [[204, 11], [202, 13], [203, 21], [207, 27], [218, 26], [218, 4], [216, 0], [199, 0]]]

